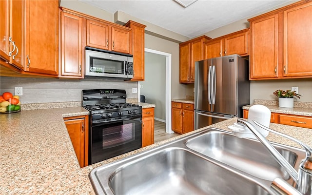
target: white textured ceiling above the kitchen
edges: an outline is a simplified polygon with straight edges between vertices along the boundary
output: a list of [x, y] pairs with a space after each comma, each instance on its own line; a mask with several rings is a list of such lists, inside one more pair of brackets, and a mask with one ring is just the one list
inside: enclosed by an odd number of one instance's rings
[[[296, 0], [80, 0], [114, 14], [124, 12], [188, 38]], [[187, 1], [181, 0], [187, 4]]]

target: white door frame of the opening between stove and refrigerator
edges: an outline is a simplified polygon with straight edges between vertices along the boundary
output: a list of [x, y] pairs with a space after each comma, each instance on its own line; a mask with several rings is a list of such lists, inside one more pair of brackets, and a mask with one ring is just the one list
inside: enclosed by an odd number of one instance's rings
[[[175, 132], [172, 131], [171, 128], [171, 54], [148, 49], [145, 48], [144, 52], [152, 53], [152, 54], [158, 54], [161, 56], [166, 57], [166, 133], [168, 134], [174, 134]], [[141, 84], [140, 82], [137, 82], [137, 98], [140, 101], [140, 95], [141, 95]], [[157, 105], [156, 105], [157, 106]]]

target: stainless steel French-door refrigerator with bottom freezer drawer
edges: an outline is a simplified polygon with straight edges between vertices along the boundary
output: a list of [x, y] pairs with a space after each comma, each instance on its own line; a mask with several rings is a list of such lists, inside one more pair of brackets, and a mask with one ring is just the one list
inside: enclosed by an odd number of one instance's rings
[[235, 54], [195, 62], [195, 129], [243, 117], [248, 104], [248, 60]]

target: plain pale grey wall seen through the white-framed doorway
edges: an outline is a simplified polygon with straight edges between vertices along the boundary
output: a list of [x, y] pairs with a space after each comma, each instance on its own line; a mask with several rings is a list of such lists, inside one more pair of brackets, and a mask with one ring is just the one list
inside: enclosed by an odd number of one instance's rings
[[140, 82], [146, 103], [155, 104], [155, 117], [166, 120], [166, 57], [145, 52], [145, 81]]

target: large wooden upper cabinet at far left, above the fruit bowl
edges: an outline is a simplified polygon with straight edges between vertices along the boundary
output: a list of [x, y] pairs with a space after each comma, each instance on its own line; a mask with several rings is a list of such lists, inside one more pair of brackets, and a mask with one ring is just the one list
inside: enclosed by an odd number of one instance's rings
[[21, 74], [57, 77], [58, 7], [58, 0], [0, 1], [0, 56]]

